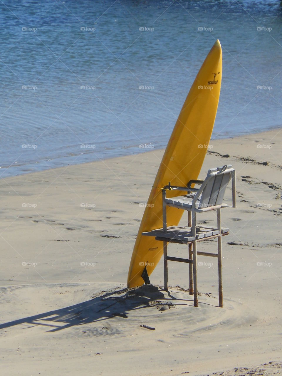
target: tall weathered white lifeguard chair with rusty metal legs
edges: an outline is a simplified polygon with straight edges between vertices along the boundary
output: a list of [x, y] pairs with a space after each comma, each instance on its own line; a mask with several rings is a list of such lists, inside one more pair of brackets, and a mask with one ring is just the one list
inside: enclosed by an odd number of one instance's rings
[[[232, 205], [223, 203], [225, 190], [232, 180]], [[199, 188], [192, 188], [192, 185], [200, 184]], [[166, 197], [167, 190], [186, 191], [187, 194], [172, 198]], [[166, 207], [173, 206], [188, 211], [188, 226], [167, 227]], [[194, 294], [194, 306], [198, 306], [197, 291], [197, 255], [216, 257], [218, 259], [218, 300], [219, 306], [223, 307], [222, 289], [222, 249], [221, 237], [229, 234], [229, 229], [221, 227], [221, 209], [236, 207], [236, 182], [235, 170], [232, 165], [210, 168], [205, 180], [191, 180], [186, 187], [171, 186], [168, 183], [162, 189], [162, 229], [143, 232], [143, 235], [153, 236], [156, 240], [163, 242], [164, 247], [164, 289], [168, 291], [168, 261], [189, 263], [189, 292]], [[217, 226], [203, 227], [196, 224], [196, 213], [217, 211]], [[217, 253], [197, 251], [199, 241], [217, 238]], [[167, 255], [167, 243], [188, 244], [188, 259], [172, 257]]]

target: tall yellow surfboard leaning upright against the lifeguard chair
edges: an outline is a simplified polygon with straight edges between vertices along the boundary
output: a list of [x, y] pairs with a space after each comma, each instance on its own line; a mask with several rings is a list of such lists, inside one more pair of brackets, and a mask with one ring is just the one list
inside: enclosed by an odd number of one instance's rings
[[[142, 235], [162, 228], [162, 190], [168, 185], [186, 186], [197, 179], [211, 139], [221, 86], [222, 51], [219, 40], [208, 53], [180, 111], [159, 166], [133, 249], [127, 286], [144, 284], [145, 265], [150, 276], [163, 255], [162, 241]], [[167, 191], [167, 197], [185, 194]], [[183, 210], [167, 207], [167, 225], [177, 226]]]

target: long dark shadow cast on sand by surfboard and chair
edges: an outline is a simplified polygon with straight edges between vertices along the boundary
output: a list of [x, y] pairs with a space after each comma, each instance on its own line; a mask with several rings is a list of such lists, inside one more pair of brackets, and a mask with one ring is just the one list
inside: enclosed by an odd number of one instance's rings
[[[0, 329], [27, 324], [29, 326], [47, 326], [50, 327], [48, 332], [56, 332], [71, 326], [108, 320], [115, 316], [127, 318], [129, 312], [150, 306], [157, 305], [158, 308], [161, 307], [161, 310], [162, 306], [169, 308], [169, 305], [172, 305], [171, 301], [175, 298], [170, 296], [170, 302], [164, 298], [164, 293], [153, 285], [143, 285], [133, 289], [124, 288], [94, 296], [90, 300], [72, 306], [9, 321], [0, 324]], [[164, 299], [163, 302], [161, 302], [162, 299]], [[190, 302], [185, 301], [189, 305]]]

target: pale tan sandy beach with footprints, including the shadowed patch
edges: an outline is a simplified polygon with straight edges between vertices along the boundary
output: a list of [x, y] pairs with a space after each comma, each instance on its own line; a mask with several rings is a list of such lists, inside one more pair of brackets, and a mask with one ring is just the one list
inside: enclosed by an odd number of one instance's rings
[[[126, 289], [163, 150], [2, 179], [1, 374], [281, 373], [281, 141], [280, 129], [217, 140], [206, 156], [201, 178], [237, 171], [237, 208], [222, 211], [224, 308], [215, 263], [199, 266], [199, 308], [187, 265], [169, 264], [169, 294]], [[162, 262], [150, 279], [163, 285]]]

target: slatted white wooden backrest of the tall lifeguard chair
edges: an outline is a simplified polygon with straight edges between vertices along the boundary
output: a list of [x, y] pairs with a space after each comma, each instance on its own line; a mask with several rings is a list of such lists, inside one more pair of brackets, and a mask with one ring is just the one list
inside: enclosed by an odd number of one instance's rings
[[235, 170], [232, 168], [232, 165], [209, 169], [206, 179], [199, 189], [199, 191], [202, 191], [199, 209], [222, 205], [224, 193], [233, 171]]

